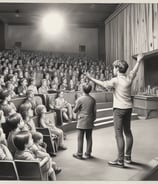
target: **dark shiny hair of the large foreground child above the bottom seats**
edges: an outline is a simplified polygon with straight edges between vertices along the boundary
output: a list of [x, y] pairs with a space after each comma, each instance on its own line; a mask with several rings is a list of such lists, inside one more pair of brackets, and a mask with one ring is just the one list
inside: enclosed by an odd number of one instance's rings
[[18, 150], [25, 150], [25, 145], [28, 144], [30, 135], [28, 131], [21, 131], [15, 135], [13, 142]]

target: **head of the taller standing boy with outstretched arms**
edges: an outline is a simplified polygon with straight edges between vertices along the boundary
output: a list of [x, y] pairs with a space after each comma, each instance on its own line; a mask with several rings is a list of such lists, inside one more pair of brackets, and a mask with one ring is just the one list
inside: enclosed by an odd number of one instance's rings
[[126, 73], [128, 63], [124, 60], [116, 60], [113, 63], [113, 74], [116, 76], [118, 73]]

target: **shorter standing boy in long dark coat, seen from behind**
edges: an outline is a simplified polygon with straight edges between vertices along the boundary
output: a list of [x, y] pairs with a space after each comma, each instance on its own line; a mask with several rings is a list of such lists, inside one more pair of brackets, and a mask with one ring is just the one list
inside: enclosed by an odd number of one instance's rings
[[83, 140], [84, 134], [86, 134], [87, 150], [85, 157], [91, 158], [92, 152], [92, 130], [93, 123], [96, 119], [96, 101], [89, 95], [92, 90], [92, 86], [89, 84], [83, 84], [83, 95], [76, 101], [74, 112], [77, 113], [77, 129], [78, 129], [78, 150], [73, 154], [73, 157], [82, 159], [83, 155]]

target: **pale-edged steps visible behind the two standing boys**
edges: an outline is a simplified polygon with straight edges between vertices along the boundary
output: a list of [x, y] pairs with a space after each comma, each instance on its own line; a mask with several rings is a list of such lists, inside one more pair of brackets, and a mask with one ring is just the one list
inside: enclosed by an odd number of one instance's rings
[[[113, 126], [113, 108], [112, 102], [100, 102], [96, 104], [97, 107], [97, 118], [94, 122], [94, 128], [104, 128]], [[132, 120], [138, 119], [136, 113], [132, 113]], [[63, 124], [63, 131], [72, 131], [76, 128], [76, 121], [72, 123], [64, 123]]]

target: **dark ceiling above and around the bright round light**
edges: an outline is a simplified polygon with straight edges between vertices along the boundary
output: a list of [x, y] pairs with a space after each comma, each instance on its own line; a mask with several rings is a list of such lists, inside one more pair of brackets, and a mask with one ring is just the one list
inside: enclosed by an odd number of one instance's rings
[[119, 4], [97, 3], [0, 3], [0, 19], [11, 25], [36, 24], [47, 12], [58, 10], [69, 24], [98, 27]]

